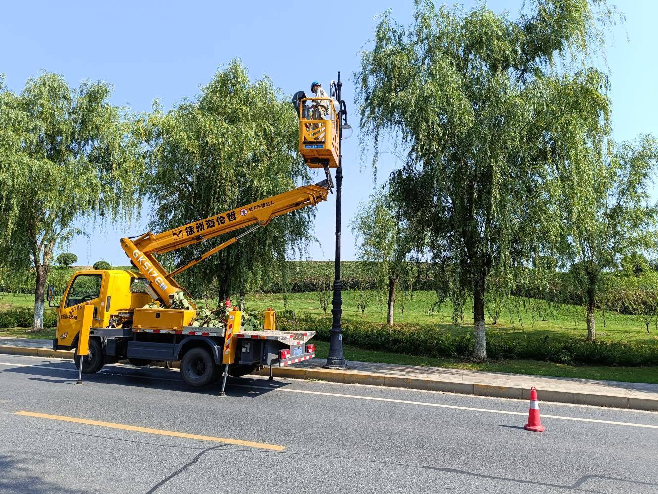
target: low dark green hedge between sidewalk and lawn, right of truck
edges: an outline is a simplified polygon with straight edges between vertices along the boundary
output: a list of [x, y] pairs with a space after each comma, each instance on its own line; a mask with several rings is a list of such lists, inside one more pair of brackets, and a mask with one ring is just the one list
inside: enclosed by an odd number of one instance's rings
[[[299, 317], [299, 325], [300, 329], [315, 331], [317, 339], [329, 341], [330, 324], [326, 319], [303, 316]], [[422, 357], [470, 358], [473, 353], [470, 333], [453, 336], [421, 325], [389, 328], [385, 324], [347, 321], [343, 322], [343, 342], [365, 350]], [[571, 365], [658, 366], [658, 346], [563, 337], [512, 339], [488, 333], [487, 355], [494, 360], [527, 358]]]

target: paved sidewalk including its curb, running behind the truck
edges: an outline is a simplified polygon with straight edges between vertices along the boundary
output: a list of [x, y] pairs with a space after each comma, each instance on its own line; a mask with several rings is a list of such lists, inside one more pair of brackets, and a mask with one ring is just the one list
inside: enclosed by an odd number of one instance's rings
[[[50, 340], [0, 337], [0, 353], [72, 358], [72, 352], [53, 352], [52, 348]], [[273, 368], [273, 373], [278, 377], [500, 398], [529, 399], [530, 388], [534, 386], [540, 401], [658, 411], [658, 384], [353, 361], [347, 362], [349, 368], [346, 370], [328, 370], [322, 368], [324, 362], [314, 358], [292, 366]], [[258, 373], [267, 372], [267, 369], [262, 369]]]

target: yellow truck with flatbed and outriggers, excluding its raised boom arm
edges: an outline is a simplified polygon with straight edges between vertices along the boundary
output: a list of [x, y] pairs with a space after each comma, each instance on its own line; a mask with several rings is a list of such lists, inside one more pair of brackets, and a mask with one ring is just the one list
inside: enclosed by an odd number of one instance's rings
[[[242, 331], [238, 308], [230, 310], [226, 323], [198, 327], [195, 310], [144, 307], [153, 302], [149, 292], [141, 273], [125, 269], [77, 271], [59, 305], [49, 287], [48, 304], [59, 316], [53, 349], [73, 350], [89, 341], [88, 355], [75, 358], [78, 369], [88, 374], [119, 360], [136, 366], [180, 361], [181, 375], [193, 387], [315, 356], [315, 346], [307, 344], [315, 332], [276, 331], [273, 310], [266, 311], [265, 331]], [[84, 331], [88, 339], [81, 339]]]

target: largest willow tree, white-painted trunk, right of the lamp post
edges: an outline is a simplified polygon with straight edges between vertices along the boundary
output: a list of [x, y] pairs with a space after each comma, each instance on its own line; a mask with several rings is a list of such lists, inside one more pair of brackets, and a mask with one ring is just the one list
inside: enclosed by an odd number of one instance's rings
[[557, 198], [573, 183], [588, 194], [590, 157], [607, 152], [609, 84], [589, 57], [610, 15], [599, 1], [534, 0], [511, 18], [417, 0], [409, 26], [385, 13], [361, 55], [362, 141], [375, 166], [382, 142], [406, 153], [393, 197], [447, 273], [435, 279], [455, 322], [472, 298], [476, 358], [488, 281], [509, 293], [553, 252]]

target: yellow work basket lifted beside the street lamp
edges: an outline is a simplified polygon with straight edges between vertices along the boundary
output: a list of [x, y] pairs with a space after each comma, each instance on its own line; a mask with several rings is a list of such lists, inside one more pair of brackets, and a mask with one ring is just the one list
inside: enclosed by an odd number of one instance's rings
[[[340, 121], [334, 99], [305, 97], [299, 101], [299, 153], [309, 168], [338, 168]], [[318, 104], [328, 107], [326, 115], [312, 109]]]

